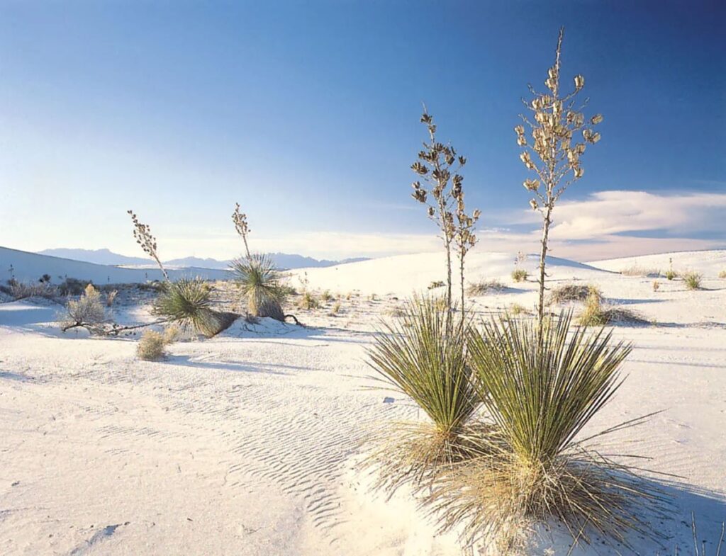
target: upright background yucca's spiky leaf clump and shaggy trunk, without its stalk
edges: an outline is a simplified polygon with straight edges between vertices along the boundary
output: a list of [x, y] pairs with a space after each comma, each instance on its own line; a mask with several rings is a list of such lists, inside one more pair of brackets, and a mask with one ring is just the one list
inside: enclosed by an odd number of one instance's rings
[[235, 259], [230, 269], [240, 293], [247, 301], [250, 315], [285, 320], [285, 313], [282, 312], [285, 290], [280, 286], [280, 272], [271, 257], [252, 255]]

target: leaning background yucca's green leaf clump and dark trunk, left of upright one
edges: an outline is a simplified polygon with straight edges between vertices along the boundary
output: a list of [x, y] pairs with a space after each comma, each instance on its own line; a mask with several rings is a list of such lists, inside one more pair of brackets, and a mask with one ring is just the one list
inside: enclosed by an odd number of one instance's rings
[[177, 323], [184, 332], [193, 330], [214, 336], [234, 320], [234, 315], [213, 310], [211, 288], [202, 278], [168, 282], [154, 302], [153, 312]]

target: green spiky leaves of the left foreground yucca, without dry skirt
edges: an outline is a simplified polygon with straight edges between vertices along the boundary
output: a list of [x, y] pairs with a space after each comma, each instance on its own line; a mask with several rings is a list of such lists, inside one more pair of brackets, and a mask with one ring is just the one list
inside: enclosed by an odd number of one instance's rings
[[407, 394], [443, 433], [457, 433], [478, 406], [465, 358], [465, 333], [451, 330], [431, 299], [408, 302], [370, 349], [370, 365]]

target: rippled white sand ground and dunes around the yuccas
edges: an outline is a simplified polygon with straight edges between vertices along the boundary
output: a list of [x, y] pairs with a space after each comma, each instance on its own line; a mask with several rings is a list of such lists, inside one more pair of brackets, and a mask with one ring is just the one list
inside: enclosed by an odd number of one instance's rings
[[[680, 280], [624, 276], [626, 267], [703, 273]], [[534, 262], [526, 262], [529, 270]], [[435, 254], [391, 257], [290, 276], [339, 297], [298, 310], [306, 328], [263, 320], [172, 345], [163, 362], [136, 357], [136, 337], [60, 333], [60, 307], [0, 304], [0, 555], [460, 555], [406, 492], [387, 500], [356, 468], [367, 428], [419, 417], [373, 384], [366, 347], [404, 296], [443, 278]], [[535, 284], [512, 283], [512, 254], [475, 253], [468, 278], [505, 291], [474, 300], [532, 307]], [[615, 399], [586, 433], [663, 410], [611, 439], [609, 451], [653, 458], [680, 476], [668, 486], [674, 518], [657, 523], [680, 553], [713, 547], [726, 520], [726, 252], [580, 263], [553, 260], [552, 284], [593, 283], [611, 304], [650, 324], [613, 328], [635, 344]], [[349, 299], [348, 298], [349, 294]], [[371, 294], [375, 294], [372, 296]], [[116, 318], [148, 318], [121, 306]], [[603, 450], [608, 452], [608, 449]], [[556, 528], [555, 528], [556, 530]], [[566, 555], [546, 536], [531, 554]], [[598, 540], [573, 554], [617, 554]], [[709, 550], [711, 554], [711, 550]]]

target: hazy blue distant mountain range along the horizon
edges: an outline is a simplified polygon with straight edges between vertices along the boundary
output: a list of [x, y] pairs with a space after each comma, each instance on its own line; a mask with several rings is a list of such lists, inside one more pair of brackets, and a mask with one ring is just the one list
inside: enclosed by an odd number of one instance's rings
[[[38, 254], [51, 255], [52, 257], [62, 257], [83, 262], [93, 262], [97, 265], [114, 265], [114, 266], [139, 266], [153, 265], [153, 261], [144, 257], [127, 257], [109, 251], [108, 249], [44, 249], [38, 251]], [[298, 254], [287, 253], [269, 253], [274, 260], [275, 265], [280, 269], [292, 268], [309, 268], [309, 267], [332, 267], [335, 265], [343, 265], [346, 262], [359, 262], [367, 260], [367, 257], [356, 257], [353, 259], [343, 259], [340, 261], [333, 260], [317, 260], [312, 257], [303, 257]], [[200, 259], [199, 257], [184, 257], [183, 259], [172, 259], [164, 261], [169, 267], [199, 267], [212, 269], [226, 269], [229, 261], [220, 261], [216, 259]]]

